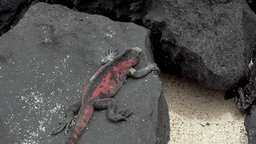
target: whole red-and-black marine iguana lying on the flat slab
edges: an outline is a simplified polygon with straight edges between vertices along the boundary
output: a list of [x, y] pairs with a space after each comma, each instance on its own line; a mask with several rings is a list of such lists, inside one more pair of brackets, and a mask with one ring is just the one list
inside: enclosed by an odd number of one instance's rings
[[80, 134], [88, 124], [94, 110], [107, 110], [108, 118], [112, 121], [127, 121], [130, 116], [129, 110], [119, 110], [115, 112], [117, 102], [112, 98], [118, 89], [123, 85], [127, 76], [139, 79], [148, 75], [153, 70], [159, 70], [155, 63], [148, 63], [146, 68], [135, 70], [134, 67], [139, 62], [139, 56], [142, 49], [133, 47], [125, 51], [123, 55], [111, 49], [107, 52], [107, 56], [101, 61], [104, 64], [89, 80], [88, 85], [84, 87], [83, 96], [79, 101], [69, 105], [65, 109], [65, 119], [60, 123], [51, 135], [60, 133], [67, 129], [71, 123], [74, 114], [78, 113], [77, 121], [74, 129], [69, 136], [67, 144], [75, 144]]

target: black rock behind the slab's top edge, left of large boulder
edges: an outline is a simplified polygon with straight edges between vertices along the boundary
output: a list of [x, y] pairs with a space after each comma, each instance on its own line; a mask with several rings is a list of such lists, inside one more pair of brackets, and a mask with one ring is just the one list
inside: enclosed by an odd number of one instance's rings
[[142, 24], [143, 17], [152, 8], [152, 2], [148, 0], [77, 0], [75, 8], [84, 13], [104, 15], [114, 21], [133, 21]]

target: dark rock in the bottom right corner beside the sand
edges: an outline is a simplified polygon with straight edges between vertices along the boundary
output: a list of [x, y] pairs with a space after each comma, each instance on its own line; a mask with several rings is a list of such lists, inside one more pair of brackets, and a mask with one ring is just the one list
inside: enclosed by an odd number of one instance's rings
[[246, 116], [245, 127], [248, 136], [248, 144], [256, 144], [256, 110]]

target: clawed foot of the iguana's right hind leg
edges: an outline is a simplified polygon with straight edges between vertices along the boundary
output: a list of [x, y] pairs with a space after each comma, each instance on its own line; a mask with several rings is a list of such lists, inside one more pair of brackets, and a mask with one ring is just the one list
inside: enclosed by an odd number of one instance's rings
[[129, 119], [127, 117], [129, 117], [131, 115], [131, 110], [119, 110], [118, 114], [112, 113], [109, 114], [108, 117], [109, 119], [111, 119], [112, 121], [127, 121], [127, 124], [130, 122]]

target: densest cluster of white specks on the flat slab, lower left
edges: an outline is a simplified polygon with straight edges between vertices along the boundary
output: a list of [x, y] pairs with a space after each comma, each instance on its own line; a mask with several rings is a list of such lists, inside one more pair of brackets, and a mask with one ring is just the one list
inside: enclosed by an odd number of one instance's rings
[[[30, 91], [30, 90], [27, 90]], [[23, 93], [23, 92], [21, 92]], [[26, 127], [26, 139], [22, 139], [21, 143], [28, 144], [40, 143], [40, 139], [45, 137], [47, 134], [46, 128], [49, 127], [49, 122], [51, 121], [51, 117], [56, 115], [57, 110], [61, 109], [61, 106], [56, 104], [54, 109], [44, 109], [46, 105], [49, 105], [49, 97], [45, 97], [44, 92], [32, 91], [29, 94], [21, 95], [17, 97], [21, 101], [24, 101], [25, 104], [22, 106], [23, 109], [26, 110], [26, 118], [22, 119], [21, 123], [27, 125]], [[37, 121], [33, 121], [37, 119]], [[18, 125], [19, 126], [19, 125]], [[21, 129], [21, 127], [12, 129], [13, 133], [21, 134], [20, 131], [25, 129]], [[50, 142], [51, 140], [48, 140]]]

